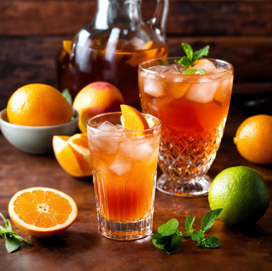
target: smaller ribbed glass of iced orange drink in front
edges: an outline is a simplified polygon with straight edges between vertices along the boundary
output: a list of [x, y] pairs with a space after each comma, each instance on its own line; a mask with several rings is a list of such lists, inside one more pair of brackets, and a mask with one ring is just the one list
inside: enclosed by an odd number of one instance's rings
[[100, 233], [134, 240], [152, 233], [161, 121], [143, 114], [150, 129], [126, 132], [121, 112], [88, 120], [88, 140]]

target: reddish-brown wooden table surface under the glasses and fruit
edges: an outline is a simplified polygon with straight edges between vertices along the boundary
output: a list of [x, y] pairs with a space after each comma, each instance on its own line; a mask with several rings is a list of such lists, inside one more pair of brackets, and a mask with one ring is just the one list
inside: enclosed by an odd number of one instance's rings
[[[252, 167], [261, 173], [272, 194], [272, 168], [244, 160], [232, 142], [239, 123], [246, 117], [231, 108], [225, 134], [217, 157], [209, 171], [214, 177], [221, 170], [237, 165]], [[157, 249], [151, 237], [131, 242], [118, 242], [100, 236], [97, 230], [94, 186], [91, 178], [76, 179], [66, 174], [54, 154], [30, 155], [15, 149], [0, 135], [0, 211], [8, 217], [8, 202], [18, 190], [46, 186], [69, 194], [79, 212], [74, 224], [59, 236], [35, 239], [20, 230], [20, 235], [33, 242], [22, 243], [8, 253], [0, 238], [0, 270], [271, 270], [272, 208], [255, 224], [234, 228], [216, 221], [209, 235], [217, 236], [222, 246], [199, 249], [195, 242], [183, 238], [182, 247], [173, 255]], [[209, 210], [208, 197], [179, 198], [156, 190], [154, 232], [158, 226], [176, 217], [180, 230], [185, 230], [186, 215], [196, 216], [195, 226]]]

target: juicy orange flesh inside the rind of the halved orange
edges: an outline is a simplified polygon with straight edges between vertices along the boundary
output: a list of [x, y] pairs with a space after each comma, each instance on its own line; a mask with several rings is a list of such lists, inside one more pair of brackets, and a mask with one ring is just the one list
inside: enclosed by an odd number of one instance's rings
[[14, 212], [29, 225], [49, 228], [67, 221], [72, 207], [59, 194], [34, 190], [23, 193], [14, 201]]

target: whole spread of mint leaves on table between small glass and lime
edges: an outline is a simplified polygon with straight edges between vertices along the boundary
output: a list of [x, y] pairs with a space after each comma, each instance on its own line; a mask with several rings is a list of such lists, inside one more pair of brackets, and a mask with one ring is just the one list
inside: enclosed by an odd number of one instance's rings
[[208, 211], [201, 220], [201, 230], [195, 231], [193, 223], [195, 216], [188, 216], [185, 220], [185, 228], [187, 232], [178, 231], [178, 221], [176, 218], [170, 219], [167, 223], [158, 227], [158, 232], [152, 234], [152, 242], [155, 247], [165, 250], [166, 253], [175, 253], [182, 246], [182, 237], [191, 237], [197, 242], [197, 247], [217, 248], [221, 246], [220, 240], [215, 236], [205, 238], [204, 233], [207, 232], [214, 224], [215, 219], [222, 212], [222, 208]]

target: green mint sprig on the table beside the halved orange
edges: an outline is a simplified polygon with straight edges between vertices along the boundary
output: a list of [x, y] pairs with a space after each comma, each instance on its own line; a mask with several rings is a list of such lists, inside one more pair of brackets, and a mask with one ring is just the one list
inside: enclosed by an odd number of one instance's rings
[[32, 245], [31, 242], [25, 240], [12, 230], [9, 219], [6, 219], [2, 213], [0, 217], [3, 219], [5, 226], [0, 226], [0, 236], [6, 239], [6, 248], [8, 252], [13, 252], [20, 247], [21, 241], [27, 242], [28, 245]]

